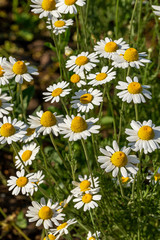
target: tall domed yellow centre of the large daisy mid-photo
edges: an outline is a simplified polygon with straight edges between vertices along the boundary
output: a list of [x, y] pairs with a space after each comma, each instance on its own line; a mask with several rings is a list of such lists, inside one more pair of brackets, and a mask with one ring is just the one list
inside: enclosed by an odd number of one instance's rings
[[87, 129], [86, 121], [79, 116], [76, 116], [71, 123], [71, 130], [75, 133], [83, 132]]

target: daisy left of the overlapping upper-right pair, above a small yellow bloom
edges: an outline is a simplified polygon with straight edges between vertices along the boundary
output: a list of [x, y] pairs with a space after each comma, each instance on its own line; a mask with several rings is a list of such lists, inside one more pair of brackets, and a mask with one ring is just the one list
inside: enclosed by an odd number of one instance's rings
[[66, 68], [79, 74], [84, 71], [89, 72], [92, 68], [96, 67], [95, 63], [98, 63], [96, 53], [89, 54], [88, 52], [82, 52], [78, 56], [71, 56], [70, 60], [66, 63]]

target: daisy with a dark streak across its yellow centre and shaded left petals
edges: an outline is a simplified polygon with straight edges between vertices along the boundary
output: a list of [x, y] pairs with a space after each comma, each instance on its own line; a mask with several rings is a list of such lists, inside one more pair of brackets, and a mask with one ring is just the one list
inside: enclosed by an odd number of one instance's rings
[[90, 88], [89, 90], [79, 90], [75, 92], [71, 101], [72, 108], [77, 109], [78, 112], [89, 112], [94, 108], [94, 105], [99, 106], [103, 102], [102, 93], [97, 89]]

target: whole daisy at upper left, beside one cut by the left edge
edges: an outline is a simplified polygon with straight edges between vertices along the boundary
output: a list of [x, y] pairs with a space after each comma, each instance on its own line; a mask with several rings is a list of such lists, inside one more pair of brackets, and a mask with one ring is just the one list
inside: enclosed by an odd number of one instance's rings
[[31, 75], [38, 75], [37, 69], [29, 66], [30, 63], [24, 61], [17, 61], [13, 57], [9, 57], [9, 61], [4, 62], [5, 76], [8, 78], [14, 78], [17, 83], [22, 84], [23, 79], [27, 82], [33, 80]]

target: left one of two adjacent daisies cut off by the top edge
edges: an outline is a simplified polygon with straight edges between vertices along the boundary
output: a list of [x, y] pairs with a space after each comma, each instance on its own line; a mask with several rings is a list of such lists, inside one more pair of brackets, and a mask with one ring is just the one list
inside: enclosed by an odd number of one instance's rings
[[34, 5], [30, 5], [33, 9], [31, 12], [40, 14], [39, 18], [43, 17], [61, 17], [60, 12], [56, 8], [57, 0], [31, 0]]

